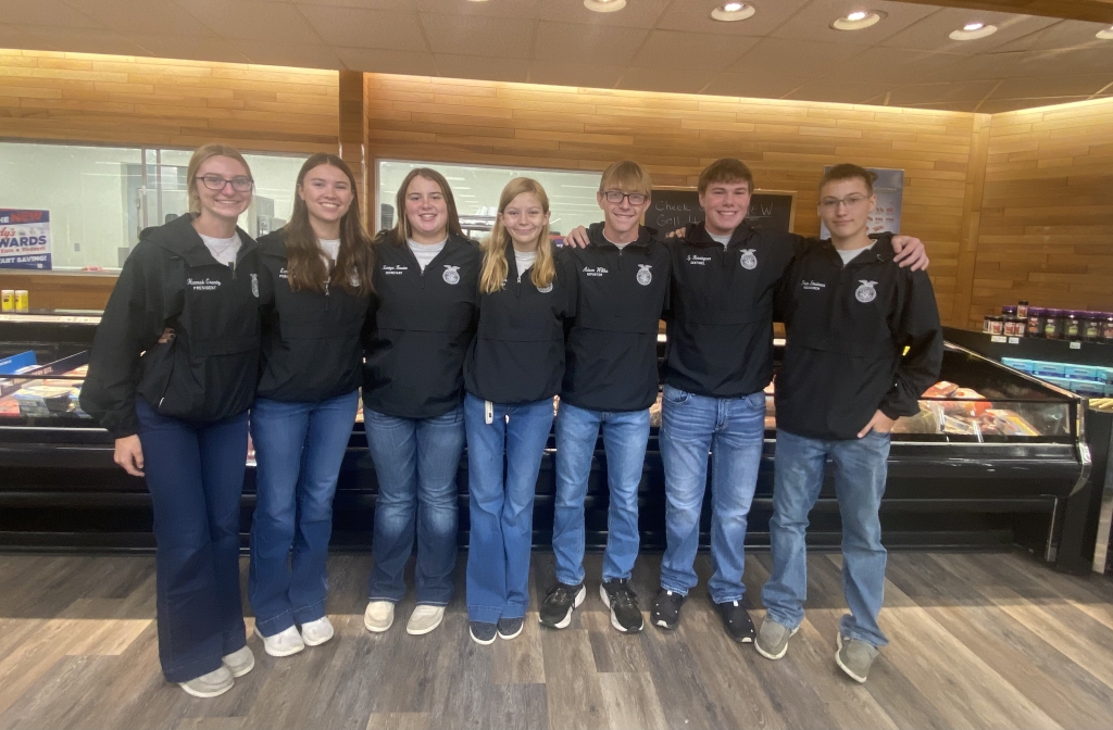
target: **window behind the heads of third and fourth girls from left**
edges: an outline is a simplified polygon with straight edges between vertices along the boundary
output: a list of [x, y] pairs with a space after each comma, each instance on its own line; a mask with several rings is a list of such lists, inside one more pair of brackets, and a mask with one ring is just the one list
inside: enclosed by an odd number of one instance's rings
[[456, 199], [461, 226], [473, 238], [482, 238], [491, 230], [499, 211], [499, 196], [515, 177], [533, 178], [545, 189], [551, 213], [549, 227], [554, 236], [602, 219], [595, 203], [599, 172], [380, 160], [376, 230], [394, 227], [398, 186], [415, 167], [431, 167], [444, 175]]

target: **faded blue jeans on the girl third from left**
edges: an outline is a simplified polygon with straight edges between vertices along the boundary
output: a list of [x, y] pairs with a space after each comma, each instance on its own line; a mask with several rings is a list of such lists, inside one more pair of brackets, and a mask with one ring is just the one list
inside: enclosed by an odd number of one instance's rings
[[417, 603], [447, 605], [456, 566], [456, 470], [464, 452], [464, 408], [432, 418], [398, 418], [364, 407], [367, 446], [375, 463], [375, 564], [372, 601], [397, 603], [406, 594], [406, 561], [417, 536]]

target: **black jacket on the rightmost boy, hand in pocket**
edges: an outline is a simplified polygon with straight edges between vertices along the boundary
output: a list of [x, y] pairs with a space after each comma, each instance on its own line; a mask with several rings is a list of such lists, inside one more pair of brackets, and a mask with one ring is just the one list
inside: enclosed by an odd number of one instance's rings
[[890, 236], [846, 266], [821, 241], [792, 264], [778, 299], [788, 338], [778, 428], [847, 440], [878, 410], [919, 413], [917, 399], [939, 375], [943, 331], [930, 279], [893, 262]]

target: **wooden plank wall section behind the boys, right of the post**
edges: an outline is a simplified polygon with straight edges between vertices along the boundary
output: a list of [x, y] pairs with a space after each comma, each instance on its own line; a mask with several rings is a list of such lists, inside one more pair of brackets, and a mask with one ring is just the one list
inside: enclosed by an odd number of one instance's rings
[[709, 162], [738, 157], [758, 187], [798, 193], [802, 234], [819, 230], [825, 165], [903, 168], [902, 229], [928, 243], [940, 312], [952, 312], [975, 115], [378, 73], [365, 81], [368, 166], [394, 158], [602, 170], [630, 158], [657, 185], [695, 186]]

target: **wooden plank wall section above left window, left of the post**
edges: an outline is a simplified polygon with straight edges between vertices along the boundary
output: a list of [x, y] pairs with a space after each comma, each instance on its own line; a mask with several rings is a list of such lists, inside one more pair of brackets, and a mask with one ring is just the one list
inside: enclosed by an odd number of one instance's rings
[[335, 152], [336, 71], [0, 50], [0, 137]]

